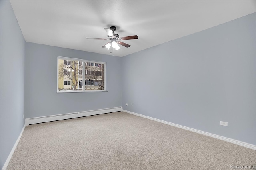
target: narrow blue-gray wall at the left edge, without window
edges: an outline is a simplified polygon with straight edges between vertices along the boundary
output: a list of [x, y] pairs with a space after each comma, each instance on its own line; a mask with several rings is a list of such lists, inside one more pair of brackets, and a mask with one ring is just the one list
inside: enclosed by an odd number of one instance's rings
[[25, 40], [10, 1], [1, 3], [0, 168], [12, 150], [24, 120]]

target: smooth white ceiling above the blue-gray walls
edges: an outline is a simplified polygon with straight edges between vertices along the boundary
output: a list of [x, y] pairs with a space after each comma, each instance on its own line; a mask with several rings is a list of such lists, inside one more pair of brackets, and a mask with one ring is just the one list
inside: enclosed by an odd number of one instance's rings
[[[256, 1], [18, 0], [11, 1], [26, 42], [126, 56], [256, 12]], [[129, 48], [110, 53], [104, 28], [116, 26]]]

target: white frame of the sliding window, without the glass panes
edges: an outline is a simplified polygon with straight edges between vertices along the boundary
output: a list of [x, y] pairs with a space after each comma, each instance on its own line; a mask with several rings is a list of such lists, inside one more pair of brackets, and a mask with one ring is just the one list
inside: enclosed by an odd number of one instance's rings
[[[71, 90], [67, 90], [67, 91], [60, 91], [59, 90], [59, 59], [61, 60], [76, 60], [76, 61], [81, 61], [83, 63], [83, 66], [82, 66], [82, 70], [83, 70], [83, 73], [85, 72], [85, 62], [92, 62], [92, 63], [98, 63], [98, 64], [104, 64], [104, 90], [85, 90], [85, 74], [82, 74], [83, 75], [83, 80], [82, 80], [82, 90], [74, 90], [74, 91], [71, 91]], [[78, 71], [79, 73], [79, 71]], [[95, 83], [95, 81], [94, 81]], [[79, 84], [78, 84], [79, 86]], [[83, 59], [78, 59], [78, 58], [69, 58], [69, 57], [62, 57], [62, 56], [58, 56], [57, 57], [57, 93], [79, 93], [79, 92], [107, 92], [107, 63], [106, 62], [99, 62], [99, 61], [92, 61], [92, 60], [83, 60]]]

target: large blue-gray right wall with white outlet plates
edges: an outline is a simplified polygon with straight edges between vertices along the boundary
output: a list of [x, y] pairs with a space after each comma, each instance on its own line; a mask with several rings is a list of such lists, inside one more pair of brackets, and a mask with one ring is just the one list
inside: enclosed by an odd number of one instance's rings
[[123, 109], [255, 145], [255, 20], [250, 14], [123, 57]]

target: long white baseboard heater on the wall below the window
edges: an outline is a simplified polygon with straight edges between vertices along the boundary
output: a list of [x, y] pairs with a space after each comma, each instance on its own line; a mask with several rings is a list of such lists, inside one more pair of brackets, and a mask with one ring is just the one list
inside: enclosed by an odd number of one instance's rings
[[122, 110], [122, 107], [116, 107], [116, 108], [88, 110], [88, 111], [74, 112], [74, 113], [67, 113], [67, 114], [56, 114], [56, 115], [42, 116], [42, 117], [36, 117], [36, 118], [26, 118], [25, 125], [27, 126], [27, 125], [36, 124], [36, 123], [52, 122], [56, 120], [80, 118], [80, 117], [92, 116], [96, 114], [119, 112], [121, 110]]

